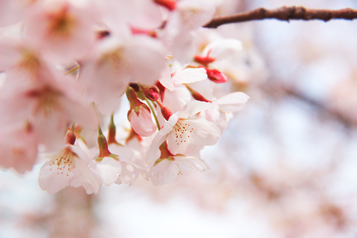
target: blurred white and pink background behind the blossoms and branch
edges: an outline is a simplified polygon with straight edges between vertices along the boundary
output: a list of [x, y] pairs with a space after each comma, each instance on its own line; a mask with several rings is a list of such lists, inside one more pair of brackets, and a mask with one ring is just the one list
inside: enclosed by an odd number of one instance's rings
[[[263, 6], [357, 9], [353, 0], [231, 0]], [[219, 28], [243, 41], [232, 90], [251, 100], [218, 144], [211, 167], [181, 168], [173, 184], [139, 179], [99, 194], [38, 185], [41, 165], [0, 170], [0, 238], [357, 237], [357, 21], [252, 21]]]

